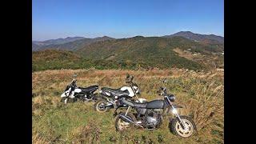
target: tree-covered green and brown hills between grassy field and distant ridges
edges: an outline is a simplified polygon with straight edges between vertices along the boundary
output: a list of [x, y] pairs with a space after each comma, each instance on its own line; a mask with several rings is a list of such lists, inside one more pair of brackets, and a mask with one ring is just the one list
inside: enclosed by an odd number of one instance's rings
[[[65, 50], [33, 52], [33, 70], [88, 69], [91, 67], [99, 70], [138, 70], [152, 67], [206, 70], [213, 67], [210, 66], [210, 62], [215, 62], [217, 66], [223, 64], [223, 56], [220, 53], [224, 50], [222, 44], [208, 41], [194, 42], [182, 37], [145, 38], [141, 36], [93, 42], [88, 45], [79, 44], [79, 47], [81, 48], [74, 52]], [[182, 56], [175, 51], [176, 49], [190, 50], [188, 53], [190, 58]], [[192, 56], [195, 53], [198, 54], [197, 57]]]

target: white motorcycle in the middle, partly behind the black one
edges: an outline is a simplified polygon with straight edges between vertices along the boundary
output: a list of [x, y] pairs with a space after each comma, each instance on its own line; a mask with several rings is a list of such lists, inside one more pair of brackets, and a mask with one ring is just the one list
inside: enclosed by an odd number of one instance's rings
[[102, 87], [99, 91], [100, 98], [94, 104], [94, 109], [98, 112], [106, 112], [111, 108], [126, 107], [126, 105], [119, 105], [118, 99], [125, 98], [131, 99], [135, 97], [136, 102], [146, 102], [144, 98], [138, 98], [137, 94], [140, 94], [138, 85], [133, 82], [134, 76], [126, 75], [126, 83], [128, 86], [123, 86], [118, 89], [111, 89], [108, 87]]

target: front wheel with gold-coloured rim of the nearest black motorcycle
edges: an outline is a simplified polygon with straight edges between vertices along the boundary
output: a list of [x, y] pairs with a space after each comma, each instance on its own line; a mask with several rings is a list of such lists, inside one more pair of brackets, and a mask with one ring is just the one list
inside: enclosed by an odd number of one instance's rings
[[194, 132], [196, 131], [196, 126], [194, 124], [194, 121], [190, 117], [180, 116], [180, 118], [186, 126], [186, 129], [183, 130], [181, 124], [178, 122], [178, 118], [175, 118], [172, 122], [170, 122], [170, 131], [183, 138], [188, 138], [194, 134]]

